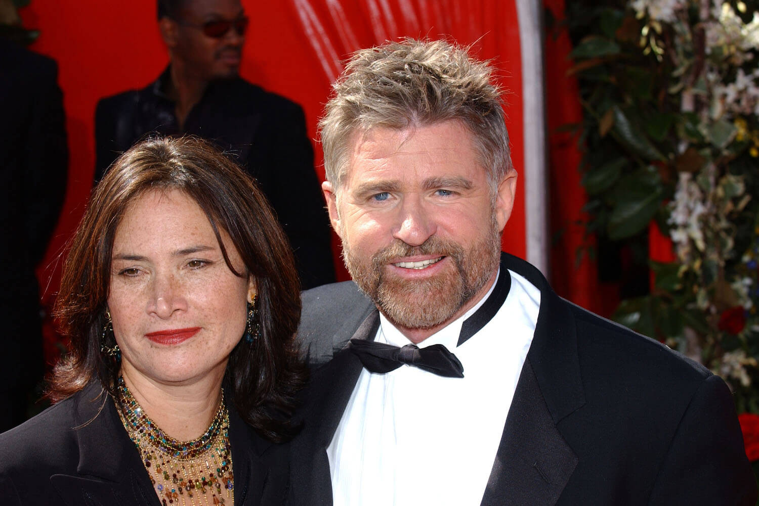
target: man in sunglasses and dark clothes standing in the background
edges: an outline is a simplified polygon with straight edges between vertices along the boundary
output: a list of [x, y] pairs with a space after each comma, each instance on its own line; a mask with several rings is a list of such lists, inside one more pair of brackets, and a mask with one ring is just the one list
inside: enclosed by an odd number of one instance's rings
[[170, 62], [142, 90], [99, 101], [95, 182], [146, 134], [213, 140], [257, 179], [288, 235], [303, 287], [335, 281], [303, 110], [238, 75], [248, 25], [240, 0], [158, 0], [157, 11]]

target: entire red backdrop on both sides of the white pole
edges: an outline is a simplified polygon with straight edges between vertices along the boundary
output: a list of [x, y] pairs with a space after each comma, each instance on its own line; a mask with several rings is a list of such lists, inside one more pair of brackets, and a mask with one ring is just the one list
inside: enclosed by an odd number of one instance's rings
[[[522, 90], [517, 12], [512, 0], [242, 0], [251, 24], [247, 35], [243, 77], [303, 105], [310, 137], [329, 96], [329, 86], [342, 69], [340, 61], [355, 49], [398, 36], [446, 36], [472, 44], [479, 58], [493, 61], [505, 90], [507, 126], [515, 167], [524, 162]], [[562, 0], [546, 0], [561, 17]], [[94, 167], [93, 115], [102, 96], [145, 86], [162, 71], [167, 55], [156, 26], [155, 2], [58, 2], [33, 0], [21, 10], [24, 26], [39, 29], [33, 50], [58, 61], [58, 82], [64, 92], [68, 143], [71, 152], [68, 190], [61, 220], [40, 266], [43, 302], [58, 288], [58, 268], [65, 243], [79, 221], [90, 194]], [[576, 83], [566, 77], [570, 63], [568, 38], [546, 38], [547, 116], [550, 130], [580, 118]], [[317, 174], [323, 178], [320, 147], [314, 143]], [[550, 137], [551, 270], [556, 291], [600, 313], [611, 304], [599, 297], [592, 262], [575, 266], [575, 250], [583, 242], [584, 202], [579, 185], [579, 155], [575, 142], [562, 135]], [[525, 255], [524, 173], [503, 247]], [[339, 277], [348, 278], [339, 261]]]

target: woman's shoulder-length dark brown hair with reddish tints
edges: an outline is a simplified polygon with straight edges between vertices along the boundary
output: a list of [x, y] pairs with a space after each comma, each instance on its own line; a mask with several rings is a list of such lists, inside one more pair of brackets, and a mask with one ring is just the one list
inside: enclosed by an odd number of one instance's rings
[[[206, 213], [229, 269], [255, 278], [260, 337], [253, 344], [241, 339], [232, 350], [225, 388], [260, 435], [284, 441], [292, 433], [288, 420], [305, 370], [294, 344], [301, 297], [293, 254], [254, 181], [197, 137], [138, 143], [113, 163], [94, 190], [71, 240], [55, 302], [58, 325], [71, 339], [71, 349], [53, 370], [49, 398], [68, 398], [93, 379], [114, 394], [119, 364], [100, 352], [113, 240], [129, 204], [153, 190], [191, 196]], [[220, 230], [231, 237], [247, 272], [231, 266]], [[109, 341], [106, 345], [113, 346], [112, 333]]]

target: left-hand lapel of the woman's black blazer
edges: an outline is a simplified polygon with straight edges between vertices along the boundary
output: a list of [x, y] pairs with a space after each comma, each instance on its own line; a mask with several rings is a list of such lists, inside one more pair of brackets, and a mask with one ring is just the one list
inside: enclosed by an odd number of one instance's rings
[[67, 504], [158, 506], [158, 497], [134, 451], [116, 407], [98, 382], [91, 382], [74, 404], [79, 446], [77, 474], [55, 474], [52, 486]]

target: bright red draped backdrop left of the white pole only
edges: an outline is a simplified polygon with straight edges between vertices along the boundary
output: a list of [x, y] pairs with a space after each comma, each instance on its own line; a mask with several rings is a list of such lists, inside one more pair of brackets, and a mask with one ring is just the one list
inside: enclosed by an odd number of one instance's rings
[[[243, 0], [251, 25], [243, 77], [303, 105], [310, 136], [329, 95], [329, 74], [359, 47], [396, 36], [449, 36], [474, 43], [480, 58], [493, 59], [508, 90], [506, 107], [514, 162], [522, 165], [521, 71], [513, 2], [417, 0], [326, 2]], [[344, 5], [342, 5], [344, 4]], [[31, 49], [58, 61], [71, 150], [68, 193], [46, 262], [39, 269], [49, 300], [57, 289], [60, 253], [80, 219], [94, 167], [93, 115], [102, 96], [145, 86], [164, 68], [167, 56], [156, 27], [153, 0], [58, 2], [33, 0], [21, 10], [24, 26], [41, 35]], [[316, 146], [317, 173], [323, 178]], [[518, 195], [523, 194], [519, 181]], [[504, 234], [504, 247], [524, 256], [524, 205], [517, 200]], [[335, 240], [335, 259], [339, 247]]]

